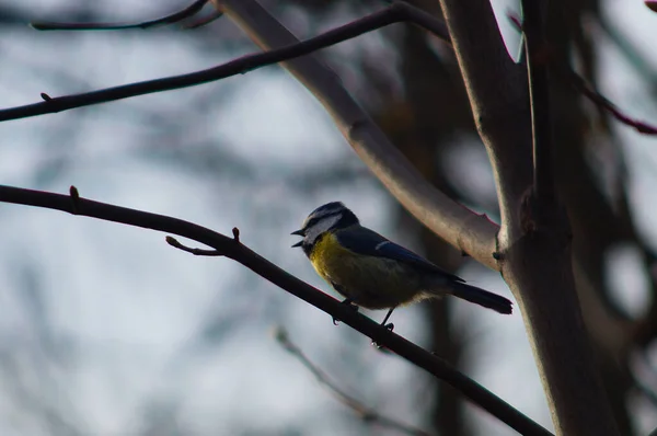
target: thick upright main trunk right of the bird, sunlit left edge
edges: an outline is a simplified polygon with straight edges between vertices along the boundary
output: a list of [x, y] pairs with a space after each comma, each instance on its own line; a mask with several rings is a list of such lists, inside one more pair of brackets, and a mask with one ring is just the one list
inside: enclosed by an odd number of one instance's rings
[[542, 205], [531, 195], [532, 123], [525, 68], [510, 62], [488, 0], [440, 4], [496, 175], [502, 273], [520, 303], [556, 432], [616, 435], [579, 311], [567, 216], [545, 207], [551, 220], [540, 229], [533, 226], [532, 210]]

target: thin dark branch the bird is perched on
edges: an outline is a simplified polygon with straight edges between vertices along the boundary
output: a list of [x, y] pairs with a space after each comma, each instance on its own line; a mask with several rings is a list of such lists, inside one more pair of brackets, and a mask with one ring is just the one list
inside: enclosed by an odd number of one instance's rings
[[333, 318], [339, 319], [345, 324], [372, 339], [377, 344], [387, 347], [400, 357], [446, 381], [473, 403], [488, 411], [517, 432], [523, 435], [551, 435], [545, 428], [474, 380], [459, 372], [443, 359], [428, 353], [364, 314], [351, 310], [350, 307], [343, 305], [335, 298], [288, 274], [234, 238], [228, 238], [182, 219], [93, 202], [80, 196], [74, 199], [73, 208], [73, 202], [71, 202], [71, 196], [69, 195], [0, 185], [0, 202], [44, 207], [73, 215], [163, 231], [211, 246], [223, 256], [246, 266], [261, 277], [266, 278]]

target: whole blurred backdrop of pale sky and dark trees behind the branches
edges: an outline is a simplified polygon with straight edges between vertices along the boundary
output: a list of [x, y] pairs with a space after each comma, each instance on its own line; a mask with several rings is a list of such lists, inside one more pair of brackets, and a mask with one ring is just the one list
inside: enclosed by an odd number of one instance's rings
[[[384, 7], [262, 1], [299, 37]], [[439, 13], [438, 2], [414, 3]], [[228, 19], [198, 30], [37, 32], [34, 20], [143, 21], [187, 3], [0, 1], [2, 107], [180, 74], [256, 47]], [[518, 2], [494, 0], [506, 19]], [[552, 1], [550, 38], [629, 114], [657, 122], [657, 15], [638, 0]], [[211, 13], [206, 7], [204, 13]], [[428, 180], [498, 221], [486, 152], [454, 57], [394, 25], [322, 51]], [[583, 312], [623, 435], [657, 427], [657, 141], [554, 80], [560, 191], [573, 221]], [[330, 291], [290, 249], [316, 206], [361, 221], [510, 297], [499, 275], [433, 237], [360, 163], [313, 96], [279, 67], [186, 90], [0, 125], [0, 183], [171, 215], [241, 239]], [[424, 371], [241, 265], [170, 248], [164, 234], [0, 205], [2, 435], [397, 435], [337, 401], [276, 341], [289, 339], [345, 392], [430, 434], [515, 432]], [[193, 244], [193, 243], [189, 243]], [[384, 312], [367, 312], [380, 320]], [[554, 314], [558, 317], [558, 313]], [[519, 310], [448, 299], [397, 310], [395, 332], [435, 351], [552, 429]]]

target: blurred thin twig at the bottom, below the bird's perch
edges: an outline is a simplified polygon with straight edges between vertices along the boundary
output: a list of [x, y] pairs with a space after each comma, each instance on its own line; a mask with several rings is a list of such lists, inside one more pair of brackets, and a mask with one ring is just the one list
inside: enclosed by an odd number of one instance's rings
[[275, 331], [276, 341], [292, 356], [295, 356], [301, 365], [303, 365], [316, 379], [321, 385], [324, 385], [328, 390], [337, 398], [337, 400], [345, 404], [347, 408], [350, 408], [356, 412], [360, 418], [367, 423], [376, 423], [383, 427], [389, 427], [396, 429], [402, 433], [406, 433], [408, 435], [415, 436], [429, 436], [427, 432], [424, 432], [419, 428], [412, 427], [410, 425], [403, 424], [396, 420], [392, 420], [390, 417], [381, 415], [372, 408], [368, 408], [362, 404], [359, 400], [349, 395], [345, 391], [343, 391], [326, 372], [322, 371], [306, 354], [292, 343], [289, 339], [287, 331], [283, 328], [277, 328]]

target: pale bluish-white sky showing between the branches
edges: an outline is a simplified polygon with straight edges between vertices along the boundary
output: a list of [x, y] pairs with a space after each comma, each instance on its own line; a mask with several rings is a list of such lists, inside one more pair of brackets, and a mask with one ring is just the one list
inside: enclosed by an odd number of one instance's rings
[[[66, 16], [71, 4], [78, 3], [23, 0], [21, 8], [47, 19]], [[176, 3], [166, 4], [173, 10]], [[512, 4], [495, 3], [498, 12]], [[108, 21], [163, 11], [155, 1], [99, 5]], [[634, 0], [609, 0], [607, 8], [637, 46], [654, 51], [657, 14]], [[206, 32], [222, 26], [232, 24], [223, 19]], [[505, 27], [509, 41], [512, 33]], [[344, 49], [356, 53], [377, 42], [369, 35]], [[41, 92], [58, 96], [189, 72], [256, 50], [210, 53], [204, 44], [176, 31], [7, 27], [0, 38], [0, 105], [33, 103]], [[657, 122], [655, 102], [642, 100], [644, 83], [623, 58], [613, 47], [601, 55], [607, 96]], [[657, 141], [616, 128], [626, 146], [639, 229], [655, 244]], [[300, 186], [300, 174], [321, 173], [328, 164], [364, 168], [320, 104], [277, 67], [2, 123], [0, 138], [2, 184], [58, 193], [76, 185], [87, 198], [171, 215], [224, 234], [239, 227], [250, 248], [324, 290], [301, 251], [290, 249], [296, 239], [289, 232], [327, 200], [343, 200], [368, 227], [413, 246], [393, 229], [394, 200], [369, 173], [353, 184]], [[483, 176], [476, 183], [492, 185], [483, 151], [456, 161], [479, 165], [473, 173]], [[429, 406], [429, 376], [377, 352], [367, 337], [334, 326], [325, 313], [230, 260], [195, 257], [170, 248], [162, 233], [53, 210], [2, 204], [0, 223], [2, 435], [175, 434], [166, 427], [188, 435], [394, 434], [360, 424], [336, 402], [274, 341], [278, 325], [365, 404], [427, 428], [422, 412]], [[610, 279], [618, 298], [639, 313], [645, 280], [633, 273], [633, 255], [619, 250], [620, 266]], [[497, 274], [474, 263], [459, 275], [512, 298]], [[457, 326], [470, 335], [466, 353], [476, 356], [464, 371], [552, 429], [520, 313], [500, 317], [451, 303]], [[420, 311], [396, 311], [395, 332], [426, 344]], [[376, 320], [384, 314], [369, 313]], [[653, 362], [657, 365], [657, 352]], [[654, 408], [637, 398], [636, 410], [643, 433], [657, 427]], [[476, 408], [471, 415], [482, 434], [515, 434]]]

